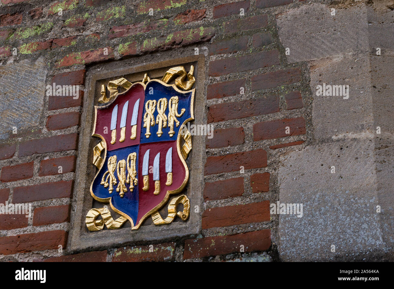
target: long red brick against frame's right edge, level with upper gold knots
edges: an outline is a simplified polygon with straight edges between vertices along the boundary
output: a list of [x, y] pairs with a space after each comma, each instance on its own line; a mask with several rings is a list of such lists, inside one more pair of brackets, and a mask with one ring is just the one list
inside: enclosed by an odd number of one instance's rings
[[279, 97], [268, 95], [258, 99], [219, 103], [208, 108], [208, 123], [279, 112]]

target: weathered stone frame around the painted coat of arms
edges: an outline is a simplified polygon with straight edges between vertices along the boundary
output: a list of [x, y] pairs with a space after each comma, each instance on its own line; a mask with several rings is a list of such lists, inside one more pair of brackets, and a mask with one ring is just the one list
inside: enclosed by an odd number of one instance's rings
[[[99, 143], [98, 138], [91, 136], [94, 125], [94, 106], [99, 105], [100, 88], [102, 84], [107, 85], [108, 81], [121, 77], [134, 83], [141, 81], [145, 73], [150, 78], [161, 79], [164, 73], [171, 67], [183, 65], [188, 71], [190, 65], [194, 65], [194, 76], [196, 79], [193, 88], [196, 88], [194, 100], [194, 116], [195, 121], [191, 123], [206, 124], [206, 91], [205, 91], [205, 58], [204, 55], [195, 55], [185, 58], [171, 59], [155, 62], [155, 60], [163, 60], [160, 54], [150, 54], [129, 60], [121, 60], [108, 63], [100, 63], [86, 70], [86, 90], [83, 111], [81, 116], [81, 127], [78, 144], [78, 158], [76, 167], [76, 180], [74, 183], [74, 196], [72, 200], [73, 214], [71, 219], [71, 227], [69, 232], [68, 251], [80, 251], [89, 248], [100, 249], [113, 246], [131, 245], [141, 243], [143, 241], [165, 240], [173, 237], [182, 237], [197, 234], [201, 231], [201, 208], [203, 205], [203, 169], [205, 162], [205, 137], [193, 136], [193, 149], [186, 159], [189, 166], [190, 177], [186, 188], [180, 194], [186, 194], [190, 199], [190, 216], [188, 220], [182, 221], [178, 216], [174, 222], [169, 225], [156, 226], [152, 222], [152, 218], [145, 220], [138, 230], [132, 230], [129, 222], [120, 229], [108, 230], [104, 226], [101, 231], [88, 231], [85, 225], [85, 217], [87, 212], [92, 208], [103, 207], [104, 203], [94, 201], [91, 197], [89, 187], [93, 180], [97, 168], [93, 165], [93, 147]], [[149, 59], [149, 61], [146, 61]], [[138, 65], [142, 61], [151, 62], [149, 64]], [[171, 82], [173, 83], [173, 81]], [[120, 92], [123, 92], [121, 90]], [[180, 195], [179, 194], [179, 195]], [[178, 195], [176, 195], [178, 196]], [[199, 206], [199, 213], [195, 213], [195, 206]], [[163, 218], [167, 217], [167, 206], [159, 210]], [[113, 218], [120, 215], [113, 212], [110, 206], [108, 209]], [[178, 205], [178, 210], [182, 209], [182, 204]]]

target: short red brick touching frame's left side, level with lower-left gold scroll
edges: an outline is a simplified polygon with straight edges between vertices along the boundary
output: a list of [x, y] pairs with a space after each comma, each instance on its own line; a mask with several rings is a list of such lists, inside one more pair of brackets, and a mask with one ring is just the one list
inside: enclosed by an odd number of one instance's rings
[[70, 222], [70, 205], [34, 209], [33, 226]]

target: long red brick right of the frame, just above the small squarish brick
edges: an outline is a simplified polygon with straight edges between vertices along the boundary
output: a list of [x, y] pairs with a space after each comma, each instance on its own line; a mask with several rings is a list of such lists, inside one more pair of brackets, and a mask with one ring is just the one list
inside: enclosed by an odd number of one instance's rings
[[228, 173], [241, 170], [264, 168], [267, 166], [267, 152], [264, 149], [243, 151], [223, 156], [212, 156], [206, 159], [204, 174]]

